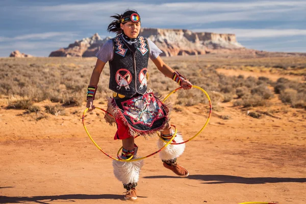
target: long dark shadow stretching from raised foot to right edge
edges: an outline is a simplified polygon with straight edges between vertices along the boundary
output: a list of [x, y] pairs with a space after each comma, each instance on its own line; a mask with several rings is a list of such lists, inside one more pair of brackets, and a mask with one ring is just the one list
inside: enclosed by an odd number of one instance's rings
[[[177, 179], [178, 176], [144, 176], [144, 179]], [[181, 179], [181, 178], [180, 178]], [[186, 179], [200, 180], [202, 184], [266, 184], [266, 183], [304, 183], [306, 178], [282, 177], [241, 177], [233, 175], [189, 175]]]

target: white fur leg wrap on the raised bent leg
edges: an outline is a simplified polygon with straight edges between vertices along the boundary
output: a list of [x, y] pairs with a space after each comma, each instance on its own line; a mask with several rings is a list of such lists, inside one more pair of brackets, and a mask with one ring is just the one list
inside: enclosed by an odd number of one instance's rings
[[[176, 133], [174, 140], [176, 143], [184, 142], [183, 136], [179, 132]], [[158, 148], [162, 148], [163, 146], [165, 146], [165, 144], [167, 143], [161, 139], [157, 141]], [[166, 148], [160, 151], [159, 156], [162, 160], [173, 160], [177, 157], [180, 157], [183, 154], [184, 150], [185, 150], [185, 143], [177, 145], [169, 144], [168, 146], [166, 146]]]

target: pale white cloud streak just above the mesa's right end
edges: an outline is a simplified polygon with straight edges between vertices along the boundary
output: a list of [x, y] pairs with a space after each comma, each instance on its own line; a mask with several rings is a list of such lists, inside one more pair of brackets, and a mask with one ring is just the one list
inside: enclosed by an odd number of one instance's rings
[[193, 32], [213, 32], [213, 33], [232, 33], [237, 38], [247, 40], [254, 38], [275, 38], [287, 36], [306, 36], [306, 30], [302, 29], [231, 29], [231, 28], [214, 28], [214, 29], [193, 29]]

